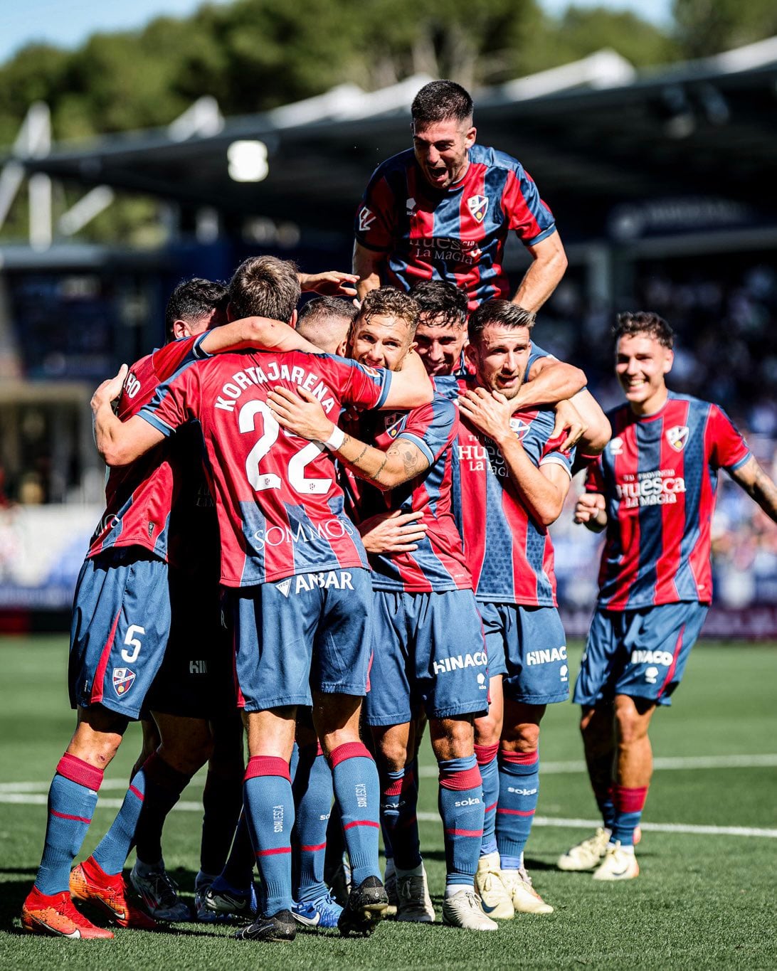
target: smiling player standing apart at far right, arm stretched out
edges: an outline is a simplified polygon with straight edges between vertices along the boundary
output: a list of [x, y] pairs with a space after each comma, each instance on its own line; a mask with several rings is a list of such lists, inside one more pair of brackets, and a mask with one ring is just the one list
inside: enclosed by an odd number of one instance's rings
[[653, 772], [648, 729], [669, 705], [712, 600], [710, 533], [725, 469], [771, 519], [777, 487], [715, 404], [666, 386], [674, 336], [652, 313], [621, 314], [615, 370], [626, 403], [592, 465], [575, 521], [606, 530], [599, 596], [574, 701], [602, 825], [558, 859], [593, 879], [639, 874], [634, 833]]

